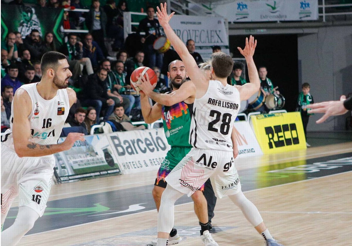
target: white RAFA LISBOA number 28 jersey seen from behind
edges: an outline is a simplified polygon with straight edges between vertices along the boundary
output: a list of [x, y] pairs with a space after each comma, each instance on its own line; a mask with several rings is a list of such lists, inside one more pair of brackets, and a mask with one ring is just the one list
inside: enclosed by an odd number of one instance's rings
[[189, 143], [200, 149], [232, 151], [231, 132], [239, 109], [238, 90], [210, 80], [205, 95], [194, 101]]

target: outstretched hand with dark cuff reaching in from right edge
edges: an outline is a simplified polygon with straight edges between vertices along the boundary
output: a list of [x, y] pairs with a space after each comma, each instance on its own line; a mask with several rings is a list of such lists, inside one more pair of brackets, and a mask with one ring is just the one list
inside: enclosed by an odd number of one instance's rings
[[[345, 101], [346, 100], [346, 101]], [[316, 121], [317, 124], [323, 123], [327, 118], [333, 115], [343, 115], [348, 112], [348, 109], [352, 109], [352, 97], [346, 99], [346, 96], [341, 96], [340, 101], [328, 101], [321, 103], [308, 104], [307, 108], [309, 114], [324, 113], [324, 115]], [[350, 108], [346, 108], [346, 105], [350, 105]]]

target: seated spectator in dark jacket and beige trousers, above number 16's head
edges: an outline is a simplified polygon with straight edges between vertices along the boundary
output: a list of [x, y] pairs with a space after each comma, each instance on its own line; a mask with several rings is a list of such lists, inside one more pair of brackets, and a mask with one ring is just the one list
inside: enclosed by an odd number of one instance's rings
[[82, 75], [83, 67], [86, 67], [88, 75], [93, 74], [93, 67], [90, 59], [83, 58], [83, 44], [77, 41], [77, 34], [70, 33], [68, 35], [68, 42], [61, 47], [61, 53], [65, 54], [72, 72], [72, 80], [77, 80], [79, 75]]

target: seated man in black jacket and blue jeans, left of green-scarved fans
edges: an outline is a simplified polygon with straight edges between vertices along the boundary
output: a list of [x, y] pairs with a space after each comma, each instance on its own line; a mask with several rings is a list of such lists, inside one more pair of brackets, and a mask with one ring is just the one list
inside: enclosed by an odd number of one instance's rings
[[96, 110], [97, 117], [100, 117], [100, 111], [105, 110], [103, 120], [111, 115], [114, 110], [115, 102], [113, 99], [108, 97], [106, 87], [106, 77], [108, 71], [106, 69], [99, 69], [98, 73], [89, 75], [88, 83], [83, 88], [82, 93], [82, 105], [93, 106]]

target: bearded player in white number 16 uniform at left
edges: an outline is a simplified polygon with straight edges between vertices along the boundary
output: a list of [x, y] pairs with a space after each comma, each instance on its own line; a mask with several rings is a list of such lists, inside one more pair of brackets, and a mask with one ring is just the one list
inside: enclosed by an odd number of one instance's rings
[[40, 63], [42, 80], [21, 86], [11, 105], [10, 129], [1, 143], [1, 227], [13, 199], [19, 209], [12, 226], [1, 233], [1, 245], [16, 245], [42, 216], [49, 198], [55, 158], [84, 134], [69, 133], [57, 144], [70, 106], [76, 101], [67, 88], [72, 76], [64, 54], [46, 52]]

